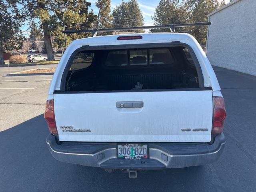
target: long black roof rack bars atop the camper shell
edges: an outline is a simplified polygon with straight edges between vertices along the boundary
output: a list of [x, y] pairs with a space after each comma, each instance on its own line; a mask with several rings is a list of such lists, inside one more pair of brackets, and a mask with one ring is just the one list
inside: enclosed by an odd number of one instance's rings
[[[191, 26], [210, 25], [210, 24], [212, 24], [212, 23], [211, 22], [201, 22], [201, 23], [169, 24], [169, 25], [142, 26], [142, 27], [110, 28], [110, 29], [67, 30], [67, 31], [62, 31], [62, 32], [63, 33], [88, 33], [88, 32], [91, 32], [92, 36], [95, 37], [95, 36], [97, 36], [98, 32], [169, 28], [170, 32], [175, 33], [175, 28], [178, 28], [178, 27], [191, 27]], [[188, 32], [190, 32], [190, 31], [188, 31]], [[181, 32], [178, 32], [178, 33], [181, 33]]]

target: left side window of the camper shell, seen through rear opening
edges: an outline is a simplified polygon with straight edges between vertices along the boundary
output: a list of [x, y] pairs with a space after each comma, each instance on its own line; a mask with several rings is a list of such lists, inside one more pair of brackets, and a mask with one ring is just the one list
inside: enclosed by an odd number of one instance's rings
[[94, 53], [89, 51], [78, 52], [71, 64], [70, 70], [87, 68], [92, 64]]

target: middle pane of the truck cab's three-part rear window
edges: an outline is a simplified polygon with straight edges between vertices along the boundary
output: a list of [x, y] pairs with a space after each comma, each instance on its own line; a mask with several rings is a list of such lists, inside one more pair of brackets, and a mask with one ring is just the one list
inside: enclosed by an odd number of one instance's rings
[[146, 64], [148, 64], [147, 49], [130, 50], [130, 65], [146, 65]]

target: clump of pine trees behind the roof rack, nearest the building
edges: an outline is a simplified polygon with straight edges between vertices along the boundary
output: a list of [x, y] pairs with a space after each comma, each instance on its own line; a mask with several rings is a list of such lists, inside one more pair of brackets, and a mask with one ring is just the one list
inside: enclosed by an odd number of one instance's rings
[[[152, 20], [155, 25], [179, 24], [186, 22], [207, 22], [207, 15], [225, 5], [224, 0], [160, 0]], [[182, 28], [191, 30], [200, 44], [206, 44], [207, 26]], [[176, 29], [179, 31], [180, 29]], [[170, 31], [168, 29], [150, 30], [151, 32]]]

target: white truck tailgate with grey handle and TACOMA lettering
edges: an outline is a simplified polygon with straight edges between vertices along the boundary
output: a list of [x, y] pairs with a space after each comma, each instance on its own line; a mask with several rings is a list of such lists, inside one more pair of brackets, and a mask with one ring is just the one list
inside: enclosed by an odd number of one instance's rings
[[[126, 105], [118, 107], [120, 103]], [[211, 140], [213, 103], [209, 89], [60, 92], [54, 94], [54, 110], [60, 141]]]

